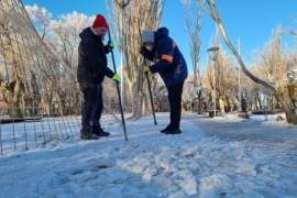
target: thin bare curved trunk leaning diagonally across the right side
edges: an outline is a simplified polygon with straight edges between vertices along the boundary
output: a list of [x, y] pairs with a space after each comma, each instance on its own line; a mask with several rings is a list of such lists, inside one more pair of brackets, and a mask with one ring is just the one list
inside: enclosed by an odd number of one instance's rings
[[267, 88], [268, 90], [271, 90], [275, 98], [282, 103], [283, 109], [286, 112], [286, 117], [287, 117], [287, 121], [289, 123], [294, 123], [297, 124], [297, 114], [294, 110], [292, 110], [289, 108], [289, 106], [285, 102], [283, 96], [268, 82], [255, 77], [252, 73], [250, 73], [243, 61], [241, 59], [239, 53], [237, 52], [237, 50], [234, 48], [234, 46], [231, 44], [231, 42], [228, 38], [227, 32], [222, 25], [221, 19], [220, 19], [220, 14], [218, 12], [217, 6], [215, 3], [215, 0], [206, 0], [206, 2], [204, 0], [197, 0], [200, 4], [201, 8], [204, 8], [204, 10], [212, 18], [212, 20], [215, 21], [215, 23], [219, 26], [222, 36], [224, 38], [226, 44], [229, 46], [229, 48], [233, 52], [234, 56], [237, 57], [243, 73], [249, 76], [253, 81], [261, 84], [262, 86], [264, 86], [265, 88]]

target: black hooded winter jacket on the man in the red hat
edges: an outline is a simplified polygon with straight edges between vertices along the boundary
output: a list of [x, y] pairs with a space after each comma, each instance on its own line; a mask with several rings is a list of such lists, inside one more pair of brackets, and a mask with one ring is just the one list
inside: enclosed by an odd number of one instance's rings
[[108, 67], [107, 53], [110, 51], [103, 45], [100, 36], [90, 28], [79, 34], [81, 41], [78, 46], [77, 81], [101, 84], [105, 76], [112, 78], [114, 73]]

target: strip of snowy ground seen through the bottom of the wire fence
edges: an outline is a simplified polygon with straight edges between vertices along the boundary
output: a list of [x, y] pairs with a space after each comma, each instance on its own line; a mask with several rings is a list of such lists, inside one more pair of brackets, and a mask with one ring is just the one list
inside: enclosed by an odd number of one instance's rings
[[[0, 117], [0, 148], [1, 155], [19, 150], [31, 150], [53, 140], [66, 140], [79, 134], [80, 117], [44, 117], [30, 120], [8, 121]], [[120, 127], [121, 123], [111, 114], [105, 113], [101, 124]]]

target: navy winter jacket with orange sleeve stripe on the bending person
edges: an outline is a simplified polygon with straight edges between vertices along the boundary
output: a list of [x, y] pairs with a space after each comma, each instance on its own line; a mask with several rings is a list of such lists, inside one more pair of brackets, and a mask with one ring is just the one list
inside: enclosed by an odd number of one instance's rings
[[155, 62], [150, 66], [151, 72], [158, 73], [166, 87], [172, 87], [185, 81], [188, 68], [183, 54], [168, 35], [168, 29], [158, 29], [155, 32], [155, 46], [152, 51], [144, 48], [143, 55]]

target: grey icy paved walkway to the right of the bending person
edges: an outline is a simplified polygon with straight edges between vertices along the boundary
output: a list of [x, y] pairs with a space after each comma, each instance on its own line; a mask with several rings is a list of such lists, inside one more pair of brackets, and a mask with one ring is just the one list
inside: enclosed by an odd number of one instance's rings
[[210, 118], [201, 114], [183, 114], [183, 120], [195, 123], [206, 135], [221, 140], [253, 143], [286, 143], [297, 146], [297, 125], [277, 124], [271, 121]]

